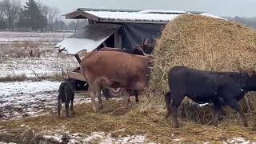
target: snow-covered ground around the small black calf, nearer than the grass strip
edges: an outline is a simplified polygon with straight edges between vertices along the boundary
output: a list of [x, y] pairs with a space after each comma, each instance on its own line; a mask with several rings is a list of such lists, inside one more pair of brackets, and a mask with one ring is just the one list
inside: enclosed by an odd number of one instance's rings
[[[21, 118], [56, 110], [61, 82], [0, 82], [0, 118]], [[75, 94], [74, 104], [90, 102], [85, 92]]]

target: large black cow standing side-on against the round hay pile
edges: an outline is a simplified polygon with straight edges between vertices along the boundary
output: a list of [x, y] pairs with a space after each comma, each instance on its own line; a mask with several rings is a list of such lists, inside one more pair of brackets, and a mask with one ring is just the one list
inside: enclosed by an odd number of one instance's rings
[[214, 126], [218, 125], [218, 114], [222, 110], [222, 106], [230, 106], [238, 111], [243, 125], [248, 126], [238, 101], [247, 92], [256, 90], [254, 71], [217, 72], [174, 66], [168, 74], [168, 84], [170, 92], [166, 93], [166, 118], [172, 111], [174, 127], [178, 127], [178, 107], [185, 96], [194, 102], [214, 104]]

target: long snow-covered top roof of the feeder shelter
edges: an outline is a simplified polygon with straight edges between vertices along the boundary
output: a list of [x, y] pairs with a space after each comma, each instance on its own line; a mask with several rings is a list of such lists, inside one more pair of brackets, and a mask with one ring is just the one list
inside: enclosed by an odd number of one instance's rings
[[[181, 10], [110, 10], [110, 9], [78, 9], [66, 18], [88, 18], [97, 22], [139, 22], [167, 23], [181, 14], [201, 14], [220, 18], [205, 12]], [[223, 19], [223, 18], [222, 18]]]

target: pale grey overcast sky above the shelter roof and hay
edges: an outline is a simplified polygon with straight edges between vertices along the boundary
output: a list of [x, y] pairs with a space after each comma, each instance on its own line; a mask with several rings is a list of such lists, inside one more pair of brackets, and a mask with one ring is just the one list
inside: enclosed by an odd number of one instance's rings
[[[26, 0], [22, 0], [26, 2]], [[256, 17], [256, 0], [36, 0], [48, 6], [57, 6], [61, 14], [78, 7], [150, 9], [150, 10], [195, 10], [218, 16]]]

